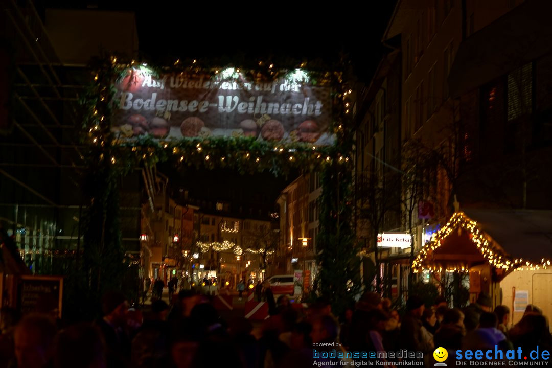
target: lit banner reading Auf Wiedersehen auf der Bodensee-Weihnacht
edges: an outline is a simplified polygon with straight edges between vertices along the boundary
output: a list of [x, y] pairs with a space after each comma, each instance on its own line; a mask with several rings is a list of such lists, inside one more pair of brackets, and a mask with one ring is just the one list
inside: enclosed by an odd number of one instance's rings
[[255, 82], [233, 68], [211, 78], [181, 73], [156, 78], [147, 68], [132, 68], [115, 89], [113, 131], [120, 138], [148, 134], [333, 143], [330, 88], [314, 86], [300, 70], [273, 82]]

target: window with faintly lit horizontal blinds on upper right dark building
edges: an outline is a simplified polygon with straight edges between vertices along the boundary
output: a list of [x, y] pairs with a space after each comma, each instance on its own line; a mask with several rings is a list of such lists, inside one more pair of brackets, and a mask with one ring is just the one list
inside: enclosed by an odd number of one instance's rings
[[533, 111], [533, 65], [528, 63], [508, 74], [508, 121]]

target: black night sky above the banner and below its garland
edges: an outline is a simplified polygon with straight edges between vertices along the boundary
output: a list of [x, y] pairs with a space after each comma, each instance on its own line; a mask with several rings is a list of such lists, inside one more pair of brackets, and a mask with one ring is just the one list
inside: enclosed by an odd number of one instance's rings
[[[78, 1], [37, 0], [39, 13], [45, 8], [125, 10], [136, 14], [140, 53], [145, 60], [173, 62], [176, 58], [254, 58], [270, 55], [298, 60], [321, 58], [332, 65], [344, 52], [353, 71], [369, 83], [385, 50], [381, 36], [395, 0], [380, 2], [329, 2], [321, 5], [299, 2], [184, 2], [174, 1]], [[331, 6], [338, 6], [331, 8]], [[161, 168], [190, 195], [222, 193], [221, 182], [232, 183], [236, 198], [259, 188], [269, 201], [296, 178], [274, 178], [271, 174], [241, 177], [235, 172], [215, 173], [173, 167]], [[228, 193], [228, 190], [224, 191]]]

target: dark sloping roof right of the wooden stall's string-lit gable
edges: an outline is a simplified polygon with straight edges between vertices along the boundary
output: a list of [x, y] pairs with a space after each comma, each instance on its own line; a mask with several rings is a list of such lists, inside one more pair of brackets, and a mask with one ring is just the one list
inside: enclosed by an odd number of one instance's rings
[[552, 259], [552, 211], [463, 209], [512, 258]]

